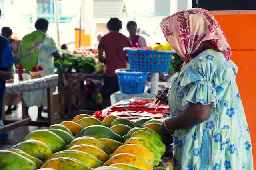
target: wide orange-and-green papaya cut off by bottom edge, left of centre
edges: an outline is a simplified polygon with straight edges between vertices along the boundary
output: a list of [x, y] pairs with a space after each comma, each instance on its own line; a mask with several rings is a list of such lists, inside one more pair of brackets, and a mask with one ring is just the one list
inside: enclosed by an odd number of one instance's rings
[[53, 168], [54, 170], [93, 170], [79, 160], [67, 157], [53, 158], [45, 162], [41, 168]]

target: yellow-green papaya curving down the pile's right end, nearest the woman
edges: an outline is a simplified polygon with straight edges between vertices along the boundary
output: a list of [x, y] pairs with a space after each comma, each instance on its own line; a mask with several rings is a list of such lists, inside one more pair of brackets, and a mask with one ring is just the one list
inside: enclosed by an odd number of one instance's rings
[[160, 155], [164, 155], [166, 147], [164, 143], [162, 143], [162, 141], [160, 141], [156, 137], [156, 135], [154, 135], [154, 133], [147, 132], [147, 131], [136, 131], [132, 134], [131, 137], [141, 137], [143, 139], [146, 139], [156, 147]]

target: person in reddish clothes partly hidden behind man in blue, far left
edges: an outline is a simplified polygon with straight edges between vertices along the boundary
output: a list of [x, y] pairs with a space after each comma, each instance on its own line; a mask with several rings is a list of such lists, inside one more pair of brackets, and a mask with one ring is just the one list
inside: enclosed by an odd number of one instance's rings
[[[11, 39], [12, 29], [10, 27], [2, 27], [1, 33], [2, 33], [2, 36], [6, 37], [9, 40], [11, 49], [12, 49], [12, 53], [14, 55], [13, 49], [15, 47], [13, 48], [13, 46], [16, 41]], [[14, 57], [17, 58], [15, 55], [14, 55]], [[21, 100], [20, 94], [5, 96], [4, 103], [5, 103], [5, 105], [8, 106], [8, 109], [6, 110], [5, 114], [9, 115], [12, 113], [12, 111], [17, 110], [17, 108], [18, 108], [17, 105], [20, 103], [20, 100]], [[14, 106], [13, 108], [12, 108], [12, 105]]]

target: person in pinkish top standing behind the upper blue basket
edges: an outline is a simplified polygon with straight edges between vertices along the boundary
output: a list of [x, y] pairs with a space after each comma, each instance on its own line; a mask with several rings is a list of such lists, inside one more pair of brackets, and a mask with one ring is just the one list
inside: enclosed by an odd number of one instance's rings
[[133, 47], [146, 47], [147, 43], [144, 37], [136, 35], [137, 23], [135, 21], [129, 21], [126, 25], [127, 31], [130, 36], [128, 37], [132, 41]]

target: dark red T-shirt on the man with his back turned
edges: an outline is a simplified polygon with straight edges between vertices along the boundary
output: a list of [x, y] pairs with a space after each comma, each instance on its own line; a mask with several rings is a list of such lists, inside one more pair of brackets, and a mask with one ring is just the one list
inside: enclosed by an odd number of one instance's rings
[[100, 39], [99, 49], [104, 49], [106, 57], [105, 76], [115, 77], [115, 70], [127, 68], [128, 59], [124, 47], [132, 47], [132, 42], [118, 32], [110, 32]]

